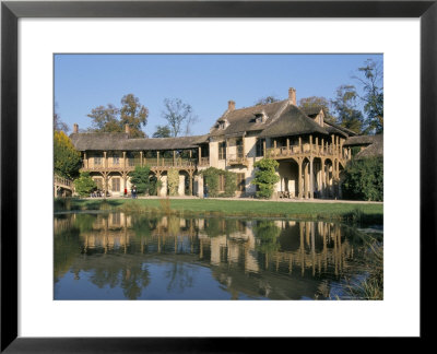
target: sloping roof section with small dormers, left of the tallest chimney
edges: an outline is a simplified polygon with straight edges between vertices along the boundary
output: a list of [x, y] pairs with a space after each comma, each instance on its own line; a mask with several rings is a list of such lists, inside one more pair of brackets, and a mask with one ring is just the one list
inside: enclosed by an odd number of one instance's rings
[[[226, 110], [217, 119], [217, 122], [210, 131], [211, 137], [226, 135], [232, 137], [246, 131], [263, 130], [272, 120], [274, 120], [283, 109], [290, 105], [290, 101], [279, 101], [267, 105], [257, 105], [247, 108]], [[256, 122], [257, 115], [264, 115], [267, 118], [262, 122]], [[218, 121], [226, 119], [228, 126], [225, 129], [218, 127]]]

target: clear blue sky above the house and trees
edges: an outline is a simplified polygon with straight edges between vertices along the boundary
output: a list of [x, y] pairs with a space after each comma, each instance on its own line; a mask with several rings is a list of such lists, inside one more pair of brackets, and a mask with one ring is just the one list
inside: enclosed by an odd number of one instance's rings
[[359, 90], [352, 75], [367, 59], [381, 62], [382, 55], [56, 55], [56, 110], [71, 130], [74, 122], [86, 129], [93, 108], [119, 107], [132, 93], [149, 109], [143, 130], [152, 135], [165, 123], [164, 99], [180, 98], [199, 118], [192, 133], [204, 134], [229, 99], [241, 108], [269, 95], [284, 99], [288, 87], [297, 101], [334, 98], [342, 84]]

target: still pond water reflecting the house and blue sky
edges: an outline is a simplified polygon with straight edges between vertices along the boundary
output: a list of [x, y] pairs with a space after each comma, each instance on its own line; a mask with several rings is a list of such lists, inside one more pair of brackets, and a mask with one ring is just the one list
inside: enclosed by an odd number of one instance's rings
[[319, 221], [57, 214], [54, 297], [351, 298], [346, 284], [369, 271], [369, 237], [382, 234]]

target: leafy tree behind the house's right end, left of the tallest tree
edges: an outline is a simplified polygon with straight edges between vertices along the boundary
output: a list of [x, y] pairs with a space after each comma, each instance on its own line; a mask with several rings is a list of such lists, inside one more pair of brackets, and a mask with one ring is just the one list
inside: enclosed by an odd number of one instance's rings
[[341, 85], [336, 88], [336, 97], [331, 104], [336, 115], [338, 123], [356, 133], [361, 133], [363, 130], [364, 117], [362, 111], [357, 109], [357, 97], [358, 95], [355, 86]]

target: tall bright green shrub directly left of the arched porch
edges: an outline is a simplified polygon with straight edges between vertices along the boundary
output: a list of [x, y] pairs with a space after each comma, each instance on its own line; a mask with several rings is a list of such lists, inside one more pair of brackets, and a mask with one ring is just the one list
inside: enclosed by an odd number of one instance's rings
[[258, 198], [269, 199], [272, 197], [273, 187], [280, 180], [280, 177], [276, 175], [279, 165], [277, 161], [272, 158], [262, 158], [255, 163], [253, 166], [257, 167], [257, 170], [251, 184], [258, 186]]

